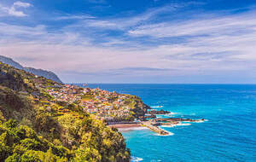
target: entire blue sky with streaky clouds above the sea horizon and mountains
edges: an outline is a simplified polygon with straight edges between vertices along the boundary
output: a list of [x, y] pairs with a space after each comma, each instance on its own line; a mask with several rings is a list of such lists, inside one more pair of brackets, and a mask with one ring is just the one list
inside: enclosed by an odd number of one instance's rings
[[64, 82], [256, 84], [253, 0], [1, 0], [0, 55]]

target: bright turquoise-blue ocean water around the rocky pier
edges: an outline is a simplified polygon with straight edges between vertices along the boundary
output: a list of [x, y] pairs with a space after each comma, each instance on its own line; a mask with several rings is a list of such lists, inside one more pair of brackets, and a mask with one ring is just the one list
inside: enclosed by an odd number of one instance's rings
[[[242, 84], [89, 84], [140, 96], [163, 106], [173, 117], [207, 119], [204, 123], [122, 132], [132, 161], [256, 161], [256, 85]], [[157, 109], [157, 108], [156, 108]], [[159, 108], [161, 109], [161, 108]]]

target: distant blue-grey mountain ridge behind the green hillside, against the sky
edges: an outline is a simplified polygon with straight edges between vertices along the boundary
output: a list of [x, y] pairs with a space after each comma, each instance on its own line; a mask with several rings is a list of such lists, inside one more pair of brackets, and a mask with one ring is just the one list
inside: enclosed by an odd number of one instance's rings
[[61, 79], [58, 78], [58, 76], [54, 72], [49, 72], [42, 69], [35, 69], [32, 67], [22, 67], [18, 62], [13, 61], [11, 58], [5, 57], [3, 55], [0, 55], [0, 61], [2, 61], [5, 64], [8, 64], [9, 66], [18, 68], [20, 70], [25, 70], [26, 72], [31, 72], [35, 75], [42, 76], [44, 78], [49, 78], [51, 80], [54, 80], [55, 82], [62, 84]]

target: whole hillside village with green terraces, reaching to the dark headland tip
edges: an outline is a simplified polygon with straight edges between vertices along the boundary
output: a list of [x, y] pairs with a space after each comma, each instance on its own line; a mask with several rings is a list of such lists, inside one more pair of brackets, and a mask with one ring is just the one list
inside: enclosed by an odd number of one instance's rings
[[[6, 73], [9, 67], [3, 67], [3, 77], [8, 77]], [[94, 114], [97, 119], [112, 122], [133, 121], [143, 117], [149, 108], [136, 95], [119, 94], [98, 88], [82, 88], [73, 84], [60, 84], [24, 71], [22, 78], [26, 87], [21, 88], [19, 93], [32, 96], [32, 100], [48, 110], [62, 107], [61, 112], [68, 113], [67, 107], [76, 107], [79, 111], [82, 109], [84, 113]]]

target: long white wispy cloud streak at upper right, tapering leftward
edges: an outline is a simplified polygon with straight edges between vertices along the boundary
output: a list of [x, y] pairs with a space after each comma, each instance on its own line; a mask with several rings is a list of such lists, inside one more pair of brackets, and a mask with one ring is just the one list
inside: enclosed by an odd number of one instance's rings
[[255, 31], [255, 13], [216, 16], [215, 18], [201, 18], [184, 20], [182, 22], [165, 22], [153, 25], [138, 26], [130, 30], [131, 36], [152, 36], [155, 38], [191, 37], [202, 35], [236, 35], [241, 32]]

